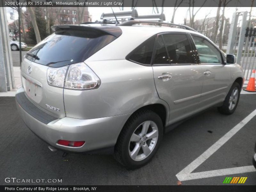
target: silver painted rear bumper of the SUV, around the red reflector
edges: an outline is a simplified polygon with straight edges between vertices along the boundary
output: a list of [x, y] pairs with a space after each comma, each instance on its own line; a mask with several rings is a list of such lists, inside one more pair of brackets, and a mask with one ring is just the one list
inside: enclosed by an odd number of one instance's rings
[[[34, 113], [29, 110], [31, 107], [24, 107], [18, 93], [24, 93], [20, 88], [16, 94], [16, 105], [18, 113], [28, 128], [49, 145], [68, 152], [88, 152], [103, 148], [110, 148], [116, 144], [117, 137], [130, 114], [102, 117], [97, 119], [75, 119], [64, 117], [54, 118], [51, 122], [42, 122]], [[20, 103], [19, 103], [20, 102]], [[30, 102], [30, 101], [29, 101]], [[33, 104], [32, 104], [33, 105]], [[38, 115], [38, 108], [35, 114]], [[40, 110], [40, 109], [39, 109]], [[44, 111], [40, 116], [48, 115]], [[45, 115], [45, 116], [46, 116]], [[48, 117], [42, 117], [44, 120]], [[46, 124], [47, 123], [47, 124]], [[58, 140], [85, 141], [82, 147], [66, 147], [57, 144]]]

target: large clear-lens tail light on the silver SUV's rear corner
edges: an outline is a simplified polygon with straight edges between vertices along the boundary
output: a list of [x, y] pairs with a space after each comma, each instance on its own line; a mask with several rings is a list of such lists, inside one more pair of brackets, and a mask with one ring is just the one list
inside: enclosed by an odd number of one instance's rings
[[100, 78], [85, 63], [76, 63], [68, 67], [48, 68], [47, 82], [51, 86], [73, 90], [96, 89]]

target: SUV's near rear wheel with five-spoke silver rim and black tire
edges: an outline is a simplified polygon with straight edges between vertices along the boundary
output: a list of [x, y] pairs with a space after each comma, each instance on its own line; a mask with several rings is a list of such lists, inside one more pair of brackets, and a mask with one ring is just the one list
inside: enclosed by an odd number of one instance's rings
[[162, 137], [161, 118], [153, 111], [141, 110], [125, 123], [117, 139], [114, 156], [127, 169], [142, 167], [156, 154]]

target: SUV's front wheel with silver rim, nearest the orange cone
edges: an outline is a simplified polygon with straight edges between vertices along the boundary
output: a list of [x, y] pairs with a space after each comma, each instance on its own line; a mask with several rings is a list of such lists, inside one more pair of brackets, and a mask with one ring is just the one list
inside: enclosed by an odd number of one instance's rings
[[[236, 91], [236, 92], [235, 92]], [[240, 98], [241, 87], [237, 82], [231, 86], [228, 95], [226, 96], [223, 105], [218, 107], [220, 113], [231, 115], [236, 110]], [[234, 95], [235, 93], [235, 95]], [[230, 104], [232, 102], [232, 104]]]

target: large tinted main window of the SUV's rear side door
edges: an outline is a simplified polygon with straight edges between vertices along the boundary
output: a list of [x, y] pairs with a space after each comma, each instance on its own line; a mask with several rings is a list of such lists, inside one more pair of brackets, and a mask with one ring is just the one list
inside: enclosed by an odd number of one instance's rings
[[194, 63], [191, 47], [185, 34], [163, 35], [170, 63]]

